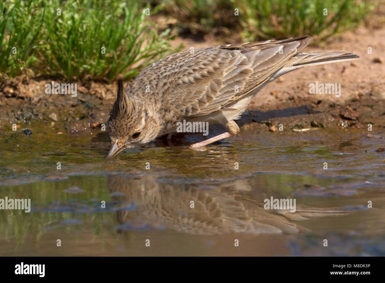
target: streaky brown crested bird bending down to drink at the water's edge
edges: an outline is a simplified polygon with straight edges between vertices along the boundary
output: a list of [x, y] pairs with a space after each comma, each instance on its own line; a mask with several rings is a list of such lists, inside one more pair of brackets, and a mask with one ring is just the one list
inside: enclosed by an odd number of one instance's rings
[[234, 122], [269, 82], [306, 66], [358, 59], [344, 51], [301, 52], [312, 37], [226, 44], [171, 54], [143, 69], [123, 88], [107, 121], [110, 159], [176, 132], [178, 122], [222, 124], [226, 132], [192, 144], [199, 149], [239, 134]]

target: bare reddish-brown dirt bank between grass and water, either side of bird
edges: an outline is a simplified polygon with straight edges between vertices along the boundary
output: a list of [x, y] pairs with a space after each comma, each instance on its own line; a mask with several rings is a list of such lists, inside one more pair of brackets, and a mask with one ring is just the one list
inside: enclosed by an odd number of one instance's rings
[[[384, 17], [383, 10], [374, 14], [372, 24], [336, 35], [324, 46], [310, 45], [304, 50], [345, 50], [359, 55], [359, 60], [305, 67], [283, 75], [254, 97], [241, 124], [263, 126], [271, 132], [277, 131], [279, 124], [299, 129], [363, 129], [372, 124], [377, 133], [385, 132], [385, 25], [375, 24], [376, 17]], [[181, 43], [184, 50], [223, 44], [210, 37], [178, 37], [172, 45]], [[24, 129], [45, 121], [61, 134], [87, 131], [107, 122], [116, 95], [115, 82], [78, 82], [77, 97], [71, 97], [45, 94], [45, 84], [51, 81], [20, 76], [0, 84], [0, 131], [9, 131], [13, 123]], [[316, 81], [341, 84], [341, 96], [309, 94], [309, 85]]]

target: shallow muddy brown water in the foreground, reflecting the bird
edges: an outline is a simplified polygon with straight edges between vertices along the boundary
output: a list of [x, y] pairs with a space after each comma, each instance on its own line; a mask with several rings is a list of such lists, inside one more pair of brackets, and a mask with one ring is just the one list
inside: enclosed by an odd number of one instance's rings
[[[385, 255], [385, 146], [367, 131], [249, 129], [108, 161], [104, 133], [32, 132], [0, 134], [0, 198], [32, 206], [0, 210], [1, 256]], [[264, 209], [271, 197], [296, 212]]]

